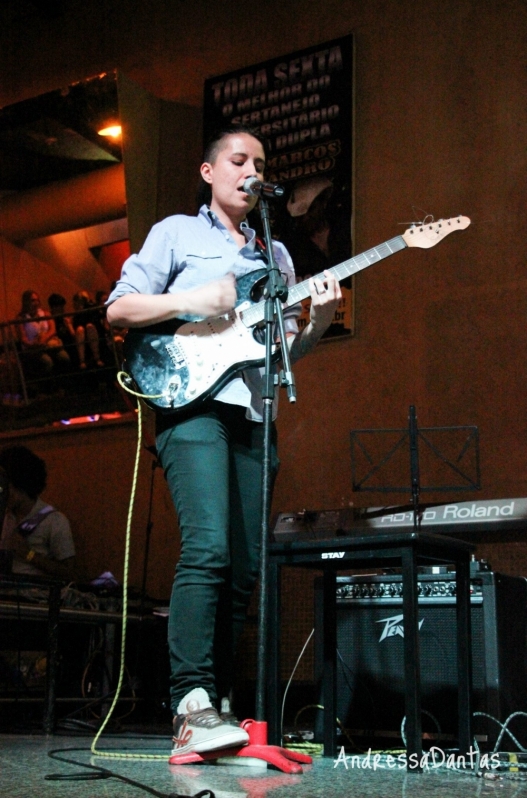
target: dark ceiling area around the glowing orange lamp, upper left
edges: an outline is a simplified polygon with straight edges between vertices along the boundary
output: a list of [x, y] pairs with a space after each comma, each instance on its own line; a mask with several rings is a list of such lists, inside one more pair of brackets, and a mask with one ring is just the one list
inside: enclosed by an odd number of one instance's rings
[[0, 109], [0, 192], [66, 180], [121, 160], [97, 130], [118, 119], [114, 72]]

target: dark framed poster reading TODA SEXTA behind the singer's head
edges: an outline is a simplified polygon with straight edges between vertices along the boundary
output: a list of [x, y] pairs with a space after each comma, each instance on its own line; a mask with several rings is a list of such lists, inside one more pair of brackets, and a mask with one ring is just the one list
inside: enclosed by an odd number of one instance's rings
[[[353, 65], [349, 35], [205, 81], [205, 141], [230, 124], [267, 140], [266, 180], [285, 189], [271, 203], [273, 236], [291, 253], [299, 282], [352, 256]], [[353, 278], [342, 294], [324, 338], [354, 332]]]

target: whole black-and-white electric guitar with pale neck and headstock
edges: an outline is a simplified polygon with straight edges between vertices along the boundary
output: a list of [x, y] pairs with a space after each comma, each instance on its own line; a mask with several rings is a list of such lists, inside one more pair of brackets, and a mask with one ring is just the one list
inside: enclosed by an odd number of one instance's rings
[[[469, 218], [458, 216], [411, 225], [402, 235], [328, 271], [340, 282], [406, 247], [429, 249], [469, 224]], [[237, 372], [265, 363], [265, 345], [256, 331], [265, 317], [265, 300], [260, 297], [266, 278], [267, 271], [257, 269], [238, 279], [236, 305], [222, 316], [171, 319], [128, 331], [123, 369], [148, 405], [162, 413], [188, 411], [215, 396]], [[289, 288], [284, 307], [309, 296], [309, 281], [304, 280]], [[273, 356], [279, 359], [279, 345], [273, 347]]]

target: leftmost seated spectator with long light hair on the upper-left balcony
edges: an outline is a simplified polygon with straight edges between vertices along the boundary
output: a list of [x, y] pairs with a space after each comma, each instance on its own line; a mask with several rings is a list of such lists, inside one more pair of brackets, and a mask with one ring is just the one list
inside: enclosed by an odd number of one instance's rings
[[24, 320], [20, 325], [22, 352], [32, 366], [36, 366], [44, 374], [49, 374], [54, 365], [60, 368], [67, 367], [70, 358], [57, 336], [55, 322], [53, 319], [46, 319], [46, 316], [36, 291], [24, 291], [22, 309], [17, 316], [18, 319]]

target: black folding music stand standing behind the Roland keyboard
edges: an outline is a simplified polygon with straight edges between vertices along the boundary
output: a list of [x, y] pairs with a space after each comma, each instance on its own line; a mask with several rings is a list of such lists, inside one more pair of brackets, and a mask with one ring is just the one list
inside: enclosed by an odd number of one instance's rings
[[[439, 442], [434, 440], [436, 437]], [[421, 479], [423, 468], [422, 459], [420, 464], [419, 443], [424, 445], [425, 456], [428, 458], [428, 479], [425, 484]], [[403, 464], [401, 459], [406, 444], [410, 460], [410, 484], [406, 483], [403, 475], [408, 461]], [[392, 467], [392, 472], [389, 481], [383, 484], [383, 469], [388, 464]], [[406, 429], [351, 431], [351, 468], [354, 491], [411, 493], [414, 529], [417, 530], [421, 526], [421, 493], [480, 490], [479, 431], [472, 425], [419, 429], [415, 406], [410, 405]], [[364, 473], [359, 476], [361, 468]], [[399, 477], [398, 482], [394, 482], [394, 475]], [[448, 481], [446, 476], [450, 477]]]

